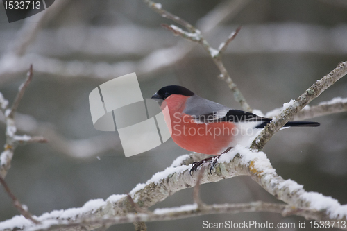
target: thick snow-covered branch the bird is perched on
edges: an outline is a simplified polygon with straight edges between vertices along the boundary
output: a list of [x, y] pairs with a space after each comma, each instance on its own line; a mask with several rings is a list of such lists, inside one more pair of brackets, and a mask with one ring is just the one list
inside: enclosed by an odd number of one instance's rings
[[[176, 191], [194, 187], [198, 182], [198, 174], [189, 175], [191, 166], [169, 167], [165, 171], [156, 173], [145, 184], [137, 185], [130, 195], [134, 202], [142, 208], [151, 207], [156, 203], [171, 196]], [[287, 203], [287, 214], [298, 214], [307, 219], [316, 219], [321, 221], [347, 221], [347, 207], [340, 205], [337, 200], [328, 196], [323, 196], [315, 192], [307, 192], [302, 185], [298, 185], [293, 180], [283, 180], [272, 168], [269, 159], [265, 153], [250, 151], [248, 148], [236, 146], [226, 154], [221, 155], [212, 174], [210, 169], [203, 169], [201, 183], [217, 182], [219, 180], [232, 178], [235, 176], [251, 176], [255, 182], [260, 184], [266, 191]], [[249, 204], [251, 205], [251, 204]], [[235, 205], [237, 206], [237, 205]], [[190, 210], [196, 210], [197, 207], [191, 207]], [[213, 209], [212, 209], [213, 210]], [[211, 210], [211, 211], [212, 211]], [[256, 207], [250, 207], [250, 211], [258, 211]], [[76, 219], [76, 222], [87, 221], [88, 219], [115, 219], [133, 222], [133, 206], [126, 195], [113, 195], [108, 200], [90, 200], [83, 207], [78, 209], [67, 209], [65, 211], [51, 212], [44, 216], [37, 217], [42, 223], [54, 222], [69, 223]], [[281, 210], [282, 211], [282, 210]], [[289, 212], [288, 212], [289, 211]], [[230, 210], [228, 210], [230, 212]], [[245, 212], [245, 210], [242, 210]], [[297, 212], [297, 213], [296, 213]], [[282, 212], [281, 212], [282, 213]], [[189, 216], [194, 216], [190, 213]], [[201, 212], [201, 214], [204, 214]], [[143, 216], [150, 216], [149, 214]], [[188, 215], [187, 215], [188, 216]], [[187, 217], [185, 215], [185, 217]], [[125, 218], [127, 217], [127, 218]], [[145, 221], [141, 219], [142, 214], [138, 214], [135, 221]], [[183, 217], [182, 217], [183, 218]], [[15, 219], [15, 218], [14, 218]], [[25, 220], [25, 219], [24, 219]], [[150, 221], [150, 220], [146, 220]], [[6, 222], [6, 221], [5, 221]], [[8, 221], [10, 222], [10, 221]], [[24, 222], [24, 221], [22, 221]], [[21, 223], [18, 225], [20, 226]], [[0, 223], [0, 227], [2, 224]], [[74, 225], [76, 226], [76, 225]], [[83, 225], [87, 230], [92, 230], [102, 226], [102, 223], [88, 223]], [[21, 227], [31, 227], [31, 230], [40, 230], [40, 226], [34, 228], [33, 225], [23, 225]], [[14, 227], [3, 228], [11, 230]], [[84, 228], [74, 228], [74, 230], [83, 230]]]

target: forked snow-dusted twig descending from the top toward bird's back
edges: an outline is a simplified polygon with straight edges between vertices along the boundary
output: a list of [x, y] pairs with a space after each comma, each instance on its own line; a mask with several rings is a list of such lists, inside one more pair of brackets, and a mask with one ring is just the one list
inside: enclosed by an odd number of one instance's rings
[[[148, 0], [144, 0], [144, 1], [146, 3], [149, 2]], [[152, 6], [155, 6], [155, 4], [158, 4], [158, 3], [153, 3], [151, 1], [150, 7], [153, 8]], [[162, 10], [162, 6], [160, 4], [156, 8], [160, 8], [160, 10]], [[155, 10], [155, 11], [158, 12], [157, 10]], [[160, 13], [160, 12], [158, 12], [158, 13]], [[162, 15], [162, 14], [160, 14], [160, 15]], [[176, 15], [172, 15], [172, 16], [176, 17]], [[251, 107], [246, 102], [246, 99], [244, 98], [242, 93], [237, 88], [237, 85], [232, 81], [230, 75], [228, 74], [228, 71], [226, 70], [226, 67], [224, 67], [223, 62], [221, 60], [221, 52], [217, 51], [216, 49], [213, 49], [210, 46], [210, 44], [208, 44], [208, 41], [205, 40], [203, 35], [201, 35], [200, 31], [198, 31], [196, 28], [194, 28], [194, 26], [192, 26], [191, 24], [189, 24], [189, 31], [190, 31], [190, 33], [187, 32], [187, 31], [184, 31], [183, 29], [179, 28], [178, 26], [174, 26], [174, 25], [169, 26], [167, 24], [162, 24], [162, 26], [164, 26], [164, 28], [167, 28], [169, 31], [172, 31], [174, 33], [174, 35], [180, 35], [181, 37], [183, 37], [183, 38], [185, 38], [187, 40], [191, 40], [193, 42], [198, 42], [199, 44], [201, 44], [203, 46], [203, 48], [205, 49], [205, 51], [207, 51], [210, 54], [210, 56], [212, 57], [212, 60], [214, 61], [214, 64], [217, 65], [219, 71], [221, 72], [219, 77], [222, 80], [226, 81], [226, 83], [228, 84], [228, 87], [230, 88], [231, 92], [234, 94], [235, 100], [237, 102], [239, 102], [239, 104], [242, 106], [243, 110], [248, 111], [248, 112], [252, 111]], [[230, 39], [228, 38], [226, 43], [229, 43], [229, 42], [231, 42], [231, 40], [233, 40], [234, 36], [231, 35], [230, 37], [231, 38]], [[223, 46], [224, 45], [222, 45], [221, 47], [223, 47]], [[226, 44], [226, 46], [227, 46], [227, 44]]]

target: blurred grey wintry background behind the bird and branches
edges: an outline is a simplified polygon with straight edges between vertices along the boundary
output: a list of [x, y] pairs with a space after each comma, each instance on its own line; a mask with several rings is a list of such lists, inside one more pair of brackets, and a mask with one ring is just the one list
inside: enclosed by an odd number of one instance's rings
[[[314, 81], [347, 60], [347, 1], [242, 0], [160, 1], [162, 7], [196, 25], [215, 49], [242, 26], [223, 62], [252, 108], [266, 113], [296, 99]], [[94, 129], [88, 96], [107, 80], [137, 73], [144, 98], [165, 85], [183, 85], [204, 98], [241, 109], [203, 48], [160, 26], [174, 24], [143, 1], [56, 0], [33, 17], [8, 23], [0, 4], [0, 91], [12, 103], [33, 64], [34, 77], [16, 114], [18, 134], [43, 135], [48, 144], [15, 150], [6, 181], [35, 215], [81, 207], [87, 200], [129, 192], [137, 183], [188, 153], [172, 139], [124, 157], [117, 132]], [[347, 77], [310, 105], [347, 97]], [[124, 96], [126, 97], [126, 96]], [[1, 114], [1, 112], [0, 112]], [[5, 144], [0, 115], [0, 146]], [[285, 179], [307, 191], [347, 203], [347, 113], [314, 118], [318, 128], [278, 132], [264, 149]], [[202, 185], [205, 203], [276, 199], [249, 177]], [[158, 203], [193, 203], [192, 189]], [[18, 214], [0, 189], [0, 221]], [[203, 221], [295, 222], [278, 214], [218, 214], [147, 223], [148, 230], [203, 230]], [[108, 230], [133, 230], [133, 224]], [[286, 229], [290, 230], [290, 229]]]

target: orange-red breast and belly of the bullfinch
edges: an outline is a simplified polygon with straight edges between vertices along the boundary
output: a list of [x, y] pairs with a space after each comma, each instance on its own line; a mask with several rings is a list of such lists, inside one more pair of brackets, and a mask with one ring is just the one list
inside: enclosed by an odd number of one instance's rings
[[[232, 142], [235, 123], [196, 123], [195, 118], [183, 113], [188, 96], [171, 95], [165, 99], [168, 107], [164, 119], [174, 142], [181, 148], [197, 153], [220, 155]], [[162, 107], [165, 107], [165, 103]], [[164, 109], [164, 108], [162, 108]]]

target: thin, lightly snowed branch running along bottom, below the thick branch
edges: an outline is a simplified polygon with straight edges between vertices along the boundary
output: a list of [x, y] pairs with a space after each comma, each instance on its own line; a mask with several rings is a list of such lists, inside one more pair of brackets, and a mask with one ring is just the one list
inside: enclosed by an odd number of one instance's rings
[[[122, 223], [172, 221], [205, 214], [238, 214], [244, 212], [272, 212], [282, 216], [305, 216], [307, 219], [318, 219], [320, 217], [320, 212], [314, 209], [295, 209], [285, 204], [257, 201], [252, 203], [205, 205], [203, 208], [198, 208], [196, 204], [183, 205], [181, 207], [155, 209], [153, 213], [130, 213], [125, 216], [103, 217], [100, 219], [90, 218], [58, 224], [52, 222], [52, 225], [49, 225], [49, 222], [47, 222], [44, 225], [37, 225], [35, 230], [76, 230], [79, 227], [88, 226], [109, 227], [110, 225]], [[42, 226], [48, 226], [48, 228], [40, 228]]]

